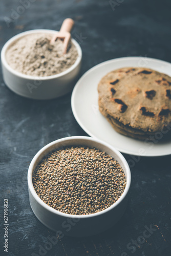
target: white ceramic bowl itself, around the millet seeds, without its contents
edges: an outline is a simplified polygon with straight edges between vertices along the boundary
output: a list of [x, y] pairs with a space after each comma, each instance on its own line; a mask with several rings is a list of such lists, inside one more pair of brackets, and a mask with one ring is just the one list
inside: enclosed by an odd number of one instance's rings
[[[96, 147], [114, 157], [123, 168], [126, 176], [126, 187], [121, 197], [109, 208], [90, 215], [64, 214], [48, 206], [36, 194], [32, 183], [32, 175], [37, 164], [51, 151], [57, 150], [59, 147], [71, 145]], [[61, 231], [63, 234], [73, 237], [91, 236], [113, 226], [124, 213], [130, 184], [130, 168], [121, 153], [105, 142], [84, 136], [67, 137], [55, 140], [44, 146], [35, 155], [28, 170], [29, 200], [37, 219], [48, 228], [54, 231]]]

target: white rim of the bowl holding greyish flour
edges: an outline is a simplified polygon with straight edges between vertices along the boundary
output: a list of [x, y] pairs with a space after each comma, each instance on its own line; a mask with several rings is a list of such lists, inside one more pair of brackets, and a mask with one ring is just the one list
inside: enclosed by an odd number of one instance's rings
[[56, 75], [52, 75], [52, 76], [31, 76], [31, 75], [25, 75], [23, 73], [20, 73], [16, 70], [14, 70], [13, 68], [10, 67], [10, 65], [8, 64], [7, 60], [6, 60], [6, 52], [9, 48], [9, 46], [16, 41], [19, 38], [24, 37], [25, 35], [29, 35], [29, 34], [35, 34], [35, 33], [50, 33], [50, 34], [55, 34], [56, 32], [58, 32], [57, 30], [51, 30], [51, 29], [33, 29], [33, 30], [28, 30], [22, 33], [19, 33], [13, 37], [11, 37], [3, 46], [2, 51], [1, 51], [1, 60], [3, 65], [6, 67], [6, 69], [8, 69], [12, 74], [18, 76], [18, 77], [22, 77], [25, 79], [33, 79], [33, 80], [49, 80], [49, 79], [54, 79], [54, 78], [58, 78], [58, 77], [62, 77], [67, 75], [68, 73], [70, 73], [71, 71], [73, 71], [80, 63], [81, 59], [82, 59], [82, 50], [81, 47], [79, 46], [78, 42], [75, 39], [71, 39], [73, 44], [75, 45], [77, 52], [78, 52], [78, 57], [76, 59], [76, 61], [74, 62], [74, 64], [67, 70], [56, 74]]

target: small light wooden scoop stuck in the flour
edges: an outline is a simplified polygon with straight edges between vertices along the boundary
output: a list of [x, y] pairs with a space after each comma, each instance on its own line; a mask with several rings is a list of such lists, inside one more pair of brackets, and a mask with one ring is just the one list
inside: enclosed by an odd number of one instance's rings
[[54, 42], [57, 40], [57, 38], [60, 38], [63, 40], [63, 54], [67, 53], [68, 45], [71, 40], [71, 30], [74, 26], [74, 20], [72, 18], [66, 18], [63, 20], [62, 26], [60, 28], [60, 31], [57, 32], [51, 39], [51, 44], [54, 44]]

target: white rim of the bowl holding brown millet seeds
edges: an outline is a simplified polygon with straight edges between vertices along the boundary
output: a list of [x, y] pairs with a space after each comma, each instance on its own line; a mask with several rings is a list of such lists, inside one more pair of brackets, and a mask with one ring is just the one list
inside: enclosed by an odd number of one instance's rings
[[[47, 205], [44, 201], [42, 201], [39, 196], [37, 195], [36, 191], [34, 190], [34, 187], [33, 187], [33, 182], [32, 182], [32, 172], [33, 172], [33, 167], [35, 165], [35, 162], [37, 161], [38, 157], [45, 151], [49, 148], [49, 152], [51, 152], [50, 148], [55, 145], [56, 143], [58, 142], [62, 142], [62, 141], [66, 141], [66, 140], [79, 140], [79, 139], [84, 139], [84, 140], [91, 140], [91, 141], [95, 141], [97, 143], [100, 143], [108, 148], [110, 148], [110, 150], [112, 150], [120, 159], [121, 161], [123, 162], [123, 165], [125, 167], [125, 174], [126, 174], [126, 186], [125, 186], [125, 189], [122, 193], [122, 195], [120, 196], [120, 198], [113, 204], [111, 205], [110, 207], [104, 209], [104, 210], [101, 210], [99, 212], [95, 212], [94, 214], [89, 214], [89, 215], [71, 215], [71, 214], [65, 214], [64, 212], [61, 212], [59, 210], [56, 210], [54, 208], [52, 208], [51, 206]], [[48, 154], [48, 153], [47, 153]], [[47, 155], [46, 154], [46, 155]], [[46, 146], [42, 147], [41, 150], [39, 150], [37, 152], [37, 154], [33, 157], [30, 165], [29, 165], [29, 169], [28, 169], [28, 187], [30, 189], [30, 192], [32, 194], [32, 196], [34, 197], [34, 199], [37, 201], [38, 204], [40, 204], [42, 207], [46, 208], [47, 210], [53, 212], [54, 214], [56, 214], [57, 216], [60, 215], [62, 217], [66, 217], [66, 218], [77, 218], [77, 219], [84, 219], [84, 218], [91, 218], [91, 217], [96, 217], [98, 215], [102, 215], [104, 214], [105, 212], [108, 212], [110, 211], [111, 209], [115, 208], [124, 198], [125, 196], [127, 195], [127, 193], [129, 192], [129, 189], [130, 189], [130, 185], [131, 185], [131, 171], [130, 171], [130, 167], [129, 165], [127, 164], [125, 158], [122, 156], [122, 154], [116, 150], [113, 146], [109, 145], [108, 143], [105, 143], [101, 140], [98, 140], [98, 139], [95, 139], [95, 138], [92, 138], [92, 137], [87, 137], [87, 136], [71, 136], [71, 137], [65, 137], [65, 138], [62, 138], [62, 139], [58, 139], [58, 140], [55, 140], [55, 141], [52, 141], [51, 143], [47, 144]]]

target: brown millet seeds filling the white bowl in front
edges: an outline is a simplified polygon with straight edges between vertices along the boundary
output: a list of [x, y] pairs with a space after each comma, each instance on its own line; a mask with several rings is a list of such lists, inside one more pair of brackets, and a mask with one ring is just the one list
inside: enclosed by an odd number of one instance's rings
[[72, 146], [47, 155], [33, 175], [42, 201], [71, 215], [89, 215], [115, 203], [126, 186], [123, 169], [105, 152]]

